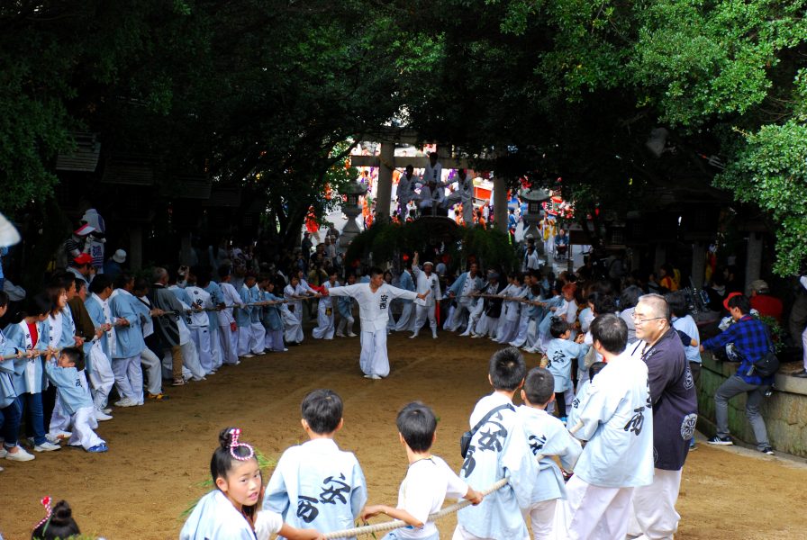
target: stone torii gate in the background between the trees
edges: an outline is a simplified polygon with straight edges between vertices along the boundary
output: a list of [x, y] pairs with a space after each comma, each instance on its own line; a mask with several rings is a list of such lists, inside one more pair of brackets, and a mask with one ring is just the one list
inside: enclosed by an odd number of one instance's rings
[[[363, 140], [373, 140], [381, 143], [379, 156], [350, 156], [352, 166], [377, 166], [378, 186], [376, 192], [376, 219], [388, 220], [389, 208], [392, 203], [393, 169], [404, 168], [411, 165], [414, 168], [425, 168], [429, 164], [429, 157], [395, 157], [395, 143], [417, 144], [417, 133], [405, 128], [384, 127], [374, 133], [367, 133]], [[443, 168], [460, 169], [471, 168], [467, 157], [450, 157], [440, 145], [437, 147], [438, 160]], [[385, 201], [386, 204], [378, 204]], [[494, 176], [494, 226], [496, 229], [507, 229], [507, 185], [501, 176]]]

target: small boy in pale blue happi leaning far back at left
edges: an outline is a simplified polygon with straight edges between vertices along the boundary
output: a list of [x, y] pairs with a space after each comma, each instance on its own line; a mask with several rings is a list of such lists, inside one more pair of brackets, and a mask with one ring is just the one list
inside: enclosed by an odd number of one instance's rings
[[48, 380], [56, 386], [61, 409], [70, 418], [72, 435], [68, 445], [83, 446], [87, 452], [106, 452], [106, 443], [93, 431], [98, 422], [86, 377], [81, 374], [85, 367], [84, 352], [77, 347], [65, 347], [58, 360], [53, 360], [49, 353], [44, 367]]

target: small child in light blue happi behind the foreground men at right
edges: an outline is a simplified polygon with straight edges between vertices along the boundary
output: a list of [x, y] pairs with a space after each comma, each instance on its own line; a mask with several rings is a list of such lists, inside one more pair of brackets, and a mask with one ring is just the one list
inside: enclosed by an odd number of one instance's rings
[[[567, 415], [567, 403], [575, 399], [572, 392], [572, 361], [577, 359], [579, 364], [583, 363], [588, 346], [582, 343], [575, 343], [571, 340], [572, 331], [566, 320], [553, 318], [549, 325], [549, 334], [552, 340], [547, 346], [547, 369], [555, 377], [555, 400], [558, 401], [558, 416], [564, 422]], [[581, 338], [582, 339], [582, 338]], [[549, 402], [549, 413], [555, 409], [554, 404]]]

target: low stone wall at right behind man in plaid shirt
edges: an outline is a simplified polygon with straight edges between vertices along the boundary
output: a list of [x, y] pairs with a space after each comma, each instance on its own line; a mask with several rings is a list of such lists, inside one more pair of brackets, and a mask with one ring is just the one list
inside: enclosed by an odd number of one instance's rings
[[[739, 364], [719, 362], [703, 353], [703, 369], [698, 381], [698, 429], [707, 437], [715, 433], [714, 392]], [[746, 396], [729, 401], [729, 429], [732, 437], [756, 445], [754, 432], [745, 414]], [[774, 393], [762, 404], [767, 436], [775, 450], [807, 457], [807, 379], [777, 374]]]

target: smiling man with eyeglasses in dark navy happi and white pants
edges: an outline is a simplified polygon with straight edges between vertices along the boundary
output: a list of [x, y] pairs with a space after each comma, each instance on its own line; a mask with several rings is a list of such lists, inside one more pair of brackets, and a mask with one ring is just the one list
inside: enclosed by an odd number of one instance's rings
[[659, 294], [639, 298], [633, 312], [636, 337], [630, 349], [648, 366], [653, 408], [653, 483], [633, 491], [628, 532], [642, 540], [672, 540], [681, 516], [676, 500], [689, 440], [694, 437], [698, 401], [684, 346], [670, 325], [670, 309]]

